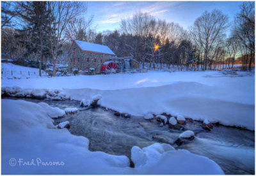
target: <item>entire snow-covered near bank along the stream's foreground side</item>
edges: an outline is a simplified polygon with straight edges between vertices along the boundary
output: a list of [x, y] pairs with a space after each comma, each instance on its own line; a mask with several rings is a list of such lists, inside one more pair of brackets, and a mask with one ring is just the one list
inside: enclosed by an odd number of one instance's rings
[[[2, 99], [2, 132], [4, 175], [223, 174], [214, 161], [165, 143], [132, 147], [130, 168], [126, 156], [91, 152], [87, 138], [56, 129], [42, 103]], [[45, 165], [52, 162], [61, 165]]]

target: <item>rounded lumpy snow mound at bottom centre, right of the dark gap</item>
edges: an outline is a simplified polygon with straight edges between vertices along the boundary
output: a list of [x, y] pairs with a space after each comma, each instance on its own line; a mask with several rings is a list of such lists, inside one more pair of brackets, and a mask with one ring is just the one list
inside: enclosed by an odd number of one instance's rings
[[[191, 154], [188, 150], [175, 150], [166, 143], [154, 143], [140, 149], [131, 150], [134, 168], [140, 168], [141, 174], [152, 175], [223, 175], [223, 171], [214, 161], [204, 156]], [[147, 168], [147, 171], [146, 171]]]

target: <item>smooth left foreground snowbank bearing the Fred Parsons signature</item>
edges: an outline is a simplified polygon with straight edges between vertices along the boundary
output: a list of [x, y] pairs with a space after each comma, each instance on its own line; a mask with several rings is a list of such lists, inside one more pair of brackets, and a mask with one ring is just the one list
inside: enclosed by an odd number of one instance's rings
[[[55, 129], [45, 108], [38, 104], [2, 100], [3, 174], [121, 174], [122, 168], [129, 166], [126, 156], [90, 152], [87, 138], [71, 135], [67, 129]], [[17, 161], [15, 166], [9, 164], [12, 158]], [[19, 159], [23, 159], [20, 166]], [[36, 166], [23, 165], [32, 159]], [[38, 159], [62, 161], [64, 165], [38, 166]]]

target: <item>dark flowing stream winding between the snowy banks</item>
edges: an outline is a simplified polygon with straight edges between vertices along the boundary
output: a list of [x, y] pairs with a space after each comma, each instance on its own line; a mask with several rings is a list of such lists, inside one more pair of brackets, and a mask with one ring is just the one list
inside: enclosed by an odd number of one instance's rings
[[[17, 98], [8, 98], [17, 99]], [[23, 99], [23, 98], [20, 98]], [[147, 147], [152, 143], [172, 143], [182, 131], [172, 130], [168, 126], [160, 127], [156, 121], [148, 122], [142, 117], [116, 117], [112, 111], [104, 108], [80, 108], [76, 101], [47, 101], [24, 99], [38, 103], [44, 101], [61, 109], [76, 107], [77, 114], [66, 115], [58, 121], [70, 121], [70, 133], [85, 136], [90, 140], [90, 150], [104, 151], [109, 154], [126, 155], [131, 158], [131, 147]], [[142, 122], [139, 124], [139, 122]], [[248, 130], [214, 126], [205, 131], [199, 122], [187, 122], [186, 127], [195, 131], [195, 139], [187, 144], [173, 145], [177, 149], [186, 149], [192, 153], [206, 156], [221, 166], [225, 174], [255, 173], [255, 133]], [[157, 136], [157, 138], [152, 138]]]

